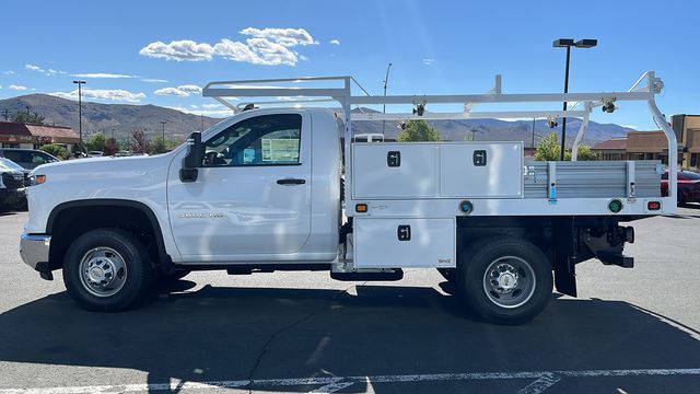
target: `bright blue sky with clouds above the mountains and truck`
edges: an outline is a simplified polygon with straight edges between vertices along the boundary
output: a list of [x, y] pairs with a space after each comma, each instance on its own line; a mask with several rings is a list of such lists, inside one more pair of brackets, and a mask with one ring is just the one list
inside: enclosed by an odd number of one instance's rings
[[[598, 39], [572, 50], [570, 92], [626, 91], [655, 70], [662, 112], [700, 113], [693, 1], [4, 0], [1, 12], [0, 99], [77, 100], [80, 79], [85, 101], [223, 117], [201, 96], [210, 81], [353, 76], [378, 95], [389, 62], [388, 94], [486, 93], [494, 74], [503, 93], [561, 92], [565, 50], [551, 44], [564, 37]], [[655, 129], [644, 103], [618, 106], [592, 119]]]

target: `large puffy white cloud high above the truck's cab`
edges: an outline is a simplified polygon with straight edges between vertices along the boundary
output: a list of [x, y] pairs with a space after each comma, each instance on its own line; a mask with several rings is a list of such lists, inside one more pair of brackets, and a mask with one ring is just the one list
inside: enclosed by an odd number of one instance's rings
[[303, 28], [254, 28], [240, 32], [250, 36], [245, 43], [222, 38], [215, 44], [196, 43], [191, 39], [173, 40], [170, 44], [155, 42], [141, 48], [139, 54], [152, 58], [175, 61], [203, 61], [214, 56], [228, 60], [264, 66], [294, 66], [306, 59], [289, 47], [318, 44]]

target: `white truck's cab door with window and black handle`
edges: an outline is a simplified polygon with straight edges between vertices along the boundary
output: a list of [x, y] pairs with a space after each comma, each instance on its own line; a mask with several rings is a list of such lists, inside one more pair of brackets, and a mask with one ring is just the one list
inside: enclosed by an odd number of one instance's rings
[[311, 116], [252, 116], [202, 139], [197, 181], [179, 181], [178, 160], [168, 176], [183, 259], [272, 260], [299, 252], [311, 234]]

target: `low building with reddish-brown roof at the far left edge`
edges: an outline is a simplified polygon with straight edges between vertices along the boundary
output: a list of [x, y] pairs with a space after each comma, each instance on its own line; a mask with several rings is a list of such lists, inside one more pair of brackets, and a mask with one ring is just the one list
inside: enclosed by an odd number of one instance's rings
[[46, 143], [58, 143], [66, 146], [66, 149], [72, 152], [78, 142], [80, 142], [80, 137], [70, 127], [0, 121], [2, 148], [38, 149]]

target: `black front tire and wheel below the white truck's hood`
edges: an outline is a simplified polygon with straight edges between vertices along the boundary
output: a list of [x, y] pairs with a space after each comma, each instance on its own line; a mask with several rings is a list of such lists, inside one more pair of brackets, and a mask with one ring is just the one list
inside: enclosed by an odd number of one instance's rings
[[148, 252], [124, 230], [92, 230], [78, 237], [63, 258], [68, 293], [89, 311], [135, 306], [151, 289], [152, 279]]

